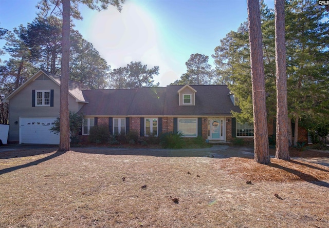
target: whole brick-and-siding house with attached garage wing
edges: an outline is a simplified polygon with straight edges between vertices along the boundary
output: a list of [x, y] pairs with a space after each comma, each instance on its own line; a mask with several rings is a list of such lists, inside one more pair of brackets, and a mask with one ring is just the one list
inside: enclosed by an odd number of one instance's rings
[[[38, 71], [7, 98], [10, 142], [58, 144], [49, 128], [59, 117], [60, 76]], [[182, 132], [185, 137], [253, 140], [253, 126], [240, 124], [234, 95], [224, 85], [90, 90], [69, 81], [69, 110], [85, 116], [82, 135], [97, 125], [112, 134], [137, 131], [140, 137]], [[273, 129], [273, 128], [272, 128]]]

